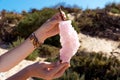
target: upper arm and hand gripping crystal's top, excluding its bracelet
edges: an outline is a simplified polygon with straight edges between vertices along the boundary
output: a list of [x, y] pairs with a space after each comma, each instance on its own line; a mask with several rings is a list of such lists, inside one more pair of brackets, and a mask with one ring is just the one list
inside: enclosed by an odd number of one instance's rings
[[[46, 23], [44, 23], [38, 30], [35, 31], [36, 37], [39, 42], [43, 43], [48, 37], [54, 36], [59, 33], [58, 22], [61, 21], [60, 14], [56, 14]], [[0, 72], [7, 71], [17, 65], [21, 60], [27, 57], [35, 50], [29, 38], [26, 39], [21, 45], [8, 51], [0, 56]]]

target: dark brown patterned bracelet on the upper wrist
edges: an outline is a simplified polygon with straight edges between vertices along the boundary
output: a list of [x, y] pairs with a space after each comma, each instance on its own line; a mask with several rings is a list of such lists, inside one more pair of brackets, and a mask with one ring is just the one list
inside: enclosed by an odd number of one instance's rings
[[38, 38], [36, 37], [35, 33], [32, 33], [29, 36], [29, 39], [33, 43], [34, 48], [38, 48], [42, 44], [38, 41]]

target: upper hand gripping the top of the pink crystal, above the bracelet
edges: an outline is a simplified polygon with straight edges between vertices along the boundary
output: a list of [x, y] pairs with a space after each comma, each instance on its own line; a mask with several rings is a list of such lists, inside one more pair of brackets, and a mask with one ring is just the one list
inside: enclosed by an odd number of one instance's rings
[[[62, 12], [64, 19], [65, 13]], [[51, 19], [48, 19], [35, 33], [40, 42], [44, 42], [48, 37], [59, 33], [59, 22], [62, 21], [60, 13], [55, 14]]]

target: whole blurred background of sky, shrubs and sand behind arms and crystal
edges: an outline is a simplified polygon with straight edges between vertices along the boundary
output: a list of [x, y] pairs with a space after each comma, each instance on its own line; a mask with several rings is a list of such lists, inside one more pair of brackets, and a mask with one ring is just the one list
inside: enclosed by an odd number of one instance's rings
[[[120, 0], [0, 0], [0, 55], [21, 44], [60, 6], [81, 46], [71, 67], [55, 80], [120, 80]], [[3, 77], [36, 61], [57, 61], [59, 40], [59, 35], [48, 38]]]

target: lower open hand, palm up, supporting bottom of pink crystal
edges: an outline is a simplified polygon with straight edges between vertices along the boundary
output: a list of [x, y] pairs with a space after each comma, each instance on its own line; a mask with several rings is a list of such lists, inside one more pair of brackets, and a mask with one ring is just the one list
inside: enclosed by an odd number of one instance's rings
[[68, 69], [69, 63], [35, 63], [27, 67], [30, 77], [38, 77], [42, 79], [55, 79], [63, 75]]

